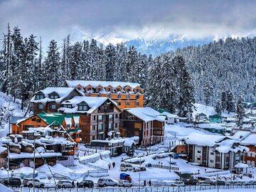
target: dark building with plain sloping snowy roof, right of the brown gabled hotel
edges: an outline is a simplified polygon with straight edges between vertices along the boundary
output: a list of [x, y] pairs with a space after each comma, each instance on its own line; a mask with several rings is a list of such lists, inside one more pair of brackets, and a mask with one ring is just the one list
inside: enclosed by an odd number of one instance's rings
[[164, 142], [165, 117], [151, 107], [127, 109], [122, 112], [120, 132], [122, 137], [139, 137], [139, 145], [149, 146]]

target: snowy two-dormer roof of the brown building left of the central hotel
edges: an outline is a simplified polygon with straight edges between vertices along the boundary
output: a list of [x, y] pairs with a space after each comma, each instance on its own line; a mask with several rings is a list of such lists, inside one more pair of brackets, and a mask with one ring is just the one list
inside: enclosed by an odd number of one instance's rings
[[[71, 87], [47, 87], [46, 89], [39, 91], [39, 92], [43, 92], [43, 95], [45, 95], [45, 98], [43, 98], [42, 100], [36, 100], [36, 96], [34, 96], [31, 99], [31, 102], [43, 102], [43, 103], [45, 103], [45, 102], [53, 102], [54, 101], [54, 102], [60, 103], [60, 102], [63, 101], [63, 99], [65, 99], [65, 97], [70, 95], [70, 92], [73, 92], [73, 90], [78, 92], [80, 95], [83, 95], [82, 92], [79, 92], [75, 88], [71, 88]], [[53, 92], [56, 92], [58, 94], [58, 96], [59, 96], [58, 99], [50, 99], [48, 97], [48, 95], [50, 93], [53, 93]]]

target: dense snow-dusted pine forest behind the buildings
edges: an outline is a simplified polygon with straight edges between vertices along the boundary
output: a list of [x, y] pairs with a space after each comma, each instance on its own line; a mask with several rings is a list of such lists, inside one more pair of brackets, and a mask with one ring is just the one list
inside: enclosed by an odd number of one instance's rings
[[2, 38], [1, 91], [21, 99], [21, 108], [33, 92], [64, 80], [139, 82], [146, 90], [146, 106], [181, 116], [191, 111], [193, 102], [231, 112], [240, 93], [249, 102], [255, 100], [255, 38], [227, 38], [156, 58], [123, 43], [73, 42], [69, 35], [60, 46], [50, 41], [46, 53], [41, 44], [41, 38], [23, 38], [21, 29], [9, 25]]

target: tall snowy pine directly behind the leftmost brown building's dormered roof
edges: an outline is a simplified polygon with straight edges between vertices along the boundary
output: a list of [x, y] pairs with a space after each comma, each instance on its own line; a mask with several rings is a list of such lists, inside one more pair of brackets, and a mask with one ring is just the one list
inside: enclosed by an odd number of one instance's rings
[[48, 55], [46, 58], [46, 87], [58, 86], [58, 68], [60, 65], [60, 53], [58, 52], [57, 42], [55, 40], [50, 41], [48, 46]]

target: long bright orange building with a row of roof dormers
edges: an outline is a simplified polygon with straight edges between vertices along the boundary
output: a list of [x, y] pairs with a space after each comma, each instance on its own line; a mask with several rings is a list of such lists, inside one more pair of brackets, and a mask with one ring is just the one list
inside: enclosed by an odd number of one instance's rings
[[139, 83], [66, 80], [65, 85], [85, 92], [87, 97], [108, 97], [122, 110], [144, 107], [144, 88]]

